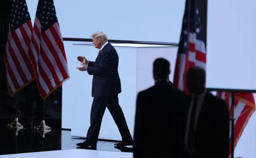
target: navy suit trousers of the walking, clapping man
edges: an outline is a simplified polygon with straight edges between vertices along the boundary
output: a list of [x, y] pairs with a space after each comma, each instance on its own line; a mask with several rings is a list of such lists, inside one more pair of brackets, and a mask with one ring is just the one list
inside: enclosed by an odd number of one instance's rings
[[108, 108], [118, 127], [122, 141], [132, 141], [132, 136], [124, 118], [124, 113], [118, 103], [117, 94], [108, 97], [94, 97], [90, 114], [90, 127], [87, 132], [86, 141], [90, 143], [97, 143], [98, 136], [100, 134], [102, 118], [106, 108]]

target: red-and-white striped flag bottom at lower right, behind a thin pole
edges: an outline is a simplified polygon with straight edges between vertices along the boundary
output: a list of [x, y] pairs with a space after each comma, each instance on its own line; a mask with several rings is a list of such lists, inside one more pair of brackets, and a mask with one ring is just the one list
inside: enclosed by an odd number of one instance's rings
[[[232, 116], [232, 98], [231, 93], [217, 92], [217, 96], [226, 101], [230, 116]], [[238, 143], [240, 136], [242, 135], [244, 128], [246, 127], [248, 120], [255, 111], [255, 101], [252, 93], [235, 93], [234, 102], [234, 148]], [[231, 154], [231, 120], [230, 120], [230, 149]]]

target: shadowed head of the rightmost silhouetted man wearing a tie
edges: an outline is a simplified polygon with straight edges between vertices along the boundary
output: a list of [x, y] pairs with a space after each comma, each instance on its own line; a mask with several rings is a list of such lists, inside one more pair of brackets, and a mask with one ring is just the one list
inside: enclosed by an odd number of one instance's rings
[[188, 92], [196, 95], [201, 94], [205, 90], [205, 71], [202, 68], [194, 67], [188, 69], [186, 74]]

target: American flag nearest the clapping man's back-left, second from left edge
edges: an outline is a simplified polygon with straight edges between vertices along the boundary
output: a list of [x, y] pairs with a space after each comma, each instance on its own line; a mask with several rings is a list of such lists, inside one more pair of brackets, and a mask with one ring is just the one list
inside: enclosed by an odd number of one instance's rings
[[38, 89], [47, 98], [69, 79], [68, 64], [53, 0], [39, 0], [30, 44]]

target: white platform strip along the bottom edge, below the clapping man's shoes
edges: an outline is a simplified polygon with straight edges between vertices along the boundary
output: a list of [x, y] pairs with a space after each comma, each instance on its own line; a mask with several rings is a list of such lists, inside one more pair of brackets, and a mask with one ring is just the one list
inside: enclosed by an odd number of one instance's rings
[[1, 155], [0, 158], [132, 158], [133, 153], [99, 150], [57, 150], [48, 152], [30, 152], [24, 154]]

